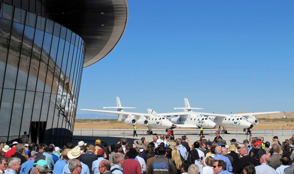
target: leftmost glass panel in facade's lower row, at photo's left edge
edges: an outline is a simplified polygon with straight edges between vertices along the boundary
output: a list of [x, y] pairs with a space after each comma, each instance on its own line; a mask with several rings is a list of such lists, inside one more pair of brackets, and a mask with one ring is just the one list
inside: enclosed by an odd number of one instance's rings
[[0, 110], [0, 136], [8, 136], [10, 118], [11, 118], [11, 109], [12, 109], [12, 102], [13, 102], [13, 89], [4, 89], [3, 96], [2, 96], [2, 103], [1, 103], [1, 110]]

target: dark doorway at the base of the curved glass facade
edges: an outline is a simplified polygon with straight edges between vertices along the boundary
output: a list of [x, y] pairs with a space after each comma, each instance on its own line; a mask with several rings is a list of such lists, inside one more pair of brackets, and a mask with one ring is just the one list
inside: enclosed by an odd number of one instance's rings
[[44, 143], [44, 136], [46, 131], [46, 121], [32, 121], [30, 136], [34, 143]]

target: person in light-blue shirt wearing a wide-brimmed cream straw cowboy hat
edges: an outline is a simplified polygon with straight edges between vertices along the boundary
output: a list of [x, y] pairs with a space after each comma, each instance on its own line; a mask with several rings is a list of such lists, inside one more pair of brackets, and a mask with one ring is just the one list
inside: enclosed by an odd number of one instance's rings
[[[83, 153], [83, 150], [80, 150], [79, 146], [75, 146], [73, 149], [71, 149], [67, 152], [67, 157], [69, 159], [79, 159], [79, 157], [81, 156], [82, 153]], [[81, 164], [82, 164], [81, 174], [90, 174], [89, 167], [82, 162], [81, 162]], [[63, 167], [62, 174], [71, 173], [70, 169], [68, 168], [68, 165], [69, 165], [69, 163]]]

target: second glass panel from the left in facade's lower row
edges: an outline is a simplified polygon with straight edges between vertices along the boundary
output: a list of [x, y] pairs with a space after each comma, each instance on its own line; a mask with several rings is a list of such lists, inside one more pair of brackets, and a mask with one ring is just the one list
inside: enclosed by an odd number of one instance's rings
[[[25, 91], [16, 90], [14, 104], [12, 110], [12, 122], [10, 126], [9, 136], [19, 136], [19, 128], [21, 126], [21, 115], [25, 101]], [[11, 139], [9, 139], [11, 140]]]

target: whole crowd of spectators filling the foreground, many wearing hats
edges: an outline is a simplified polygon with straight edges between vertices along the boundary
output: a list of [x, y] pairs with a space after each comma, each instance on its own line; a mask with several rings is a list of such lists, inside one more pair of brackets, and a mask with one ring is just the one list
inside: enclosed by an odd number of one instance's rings
[[[26, 134], [25, 134], [26, 135]], [[121, 138], [112, 145], [67, 143], [62, 149], [54, 144], [0, 142], [0, 173], [7, 174], [293, 174], [294, 135], [272, 143], [263, 137], [243, 142], [222, 139], [216, 131], [213, 141], [205, 136], [191, 143], [187, 135], [154, 135], [128, 142]]]

